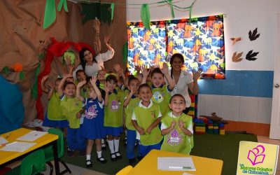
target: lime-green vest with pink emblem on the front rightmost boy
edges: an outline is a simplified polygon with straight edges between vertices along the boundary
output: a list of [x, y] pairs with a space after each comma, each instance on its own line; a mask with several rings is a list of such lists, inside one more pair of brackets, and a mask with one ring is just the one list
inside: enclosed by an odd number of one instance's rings
[[172, 115], [172, 113], [167, 113], [167, 115], [162, 118], [162, 123], [167, 127], [170, 127], [171, 123], [176, 121], [176, 125], [174, 130], [164, 136], [162, 147], [160, 149], [175, 153], [190, 154], [190, 151], [193, 148], [193, 136], [188, 137], [186, 134], [184, 134], [179, 128], [178, 123], [179, 120], [183, 120], [183, 123], [185, 123], [185, 128], [188, 128], [188, 126], [193, 123], [193, 118], [187, 116], [184, 113], [182, 113], [180, 117], [176, 118], [172, 118], [170, 115]]

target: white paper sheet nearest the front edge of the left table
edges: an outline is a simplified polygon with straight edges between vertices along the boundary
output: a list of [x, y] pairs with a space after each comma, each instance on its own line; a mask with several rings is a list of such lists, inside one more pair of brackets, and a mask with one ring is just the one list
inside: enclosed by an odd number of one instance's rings
[[36, 145], [37, 143], [28, 143], [28, 142], [21, 142], [21, 141], [14, 141], [10, 144], [7, 144], [0, 151], [15, 151], [15, 152], [23, 152], [26, 151], [31, 146]]

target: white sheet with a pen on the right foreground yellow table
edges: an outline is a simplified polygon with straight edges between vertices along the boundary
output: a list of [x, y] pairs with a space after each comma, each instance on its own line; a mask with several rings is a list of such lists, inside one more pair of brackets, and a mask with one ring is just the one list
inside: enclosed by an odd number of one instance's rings
[[193, 159], [180, 157], [158, 157], [158, 169], [167, 171], [196, 171]]

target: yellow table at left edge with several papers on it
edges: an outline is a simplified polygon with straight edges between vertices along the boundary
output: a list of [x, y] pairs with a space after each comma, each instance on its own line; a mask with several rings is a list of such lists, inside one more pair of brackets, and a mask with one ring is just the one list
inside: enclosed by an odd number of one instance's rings
[[[8, 140], [9, 143], [16, 141], [19, 137], [31, 132], [32, 130], [26, 128], [20, 128], [18, 130], [13, 130], [11, 132], [6, 132], [0, 136]], [[31, 148], [28, 148], [23, 152], [14, 152], [14, 151], [0, 151], [0, 169], [9, 165], [12, 162], [25, 158], [29, 153], [36, 151], [47, 146], [53, 146], [53, 155], [55, 160], [55, 174], [59, 174], [59, 162], [57, 158], [57, 139], [58, 136], [55, 134], [45, 134], [42, 137], [36, 139], [35, 141], [26, 141], [31, 143], [36, 143]], [[2, 148], [2, 146], [0, 146]]]

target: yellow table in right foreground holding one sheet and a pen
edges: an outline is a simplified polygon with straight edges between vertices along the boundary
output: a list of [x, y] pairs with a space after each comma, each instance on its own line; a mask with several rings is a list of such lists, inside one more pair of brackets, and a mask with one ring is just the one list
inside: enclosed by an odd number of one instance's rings
[[[196, 171], [163, 171], [158, 170], [158, 157], [190, 157], [193, 158]], [[146, 155], [129, 173], [131, 175], [148, 175], [148, 174], [180, 174], [187, 172], [188, 174], [201, 175], [218, 175], [222, 173], [223, 161], [202, 158], [194, 155], [183, 155], [179, 153], [172, 153], [167, 151], [152, 150]]]

